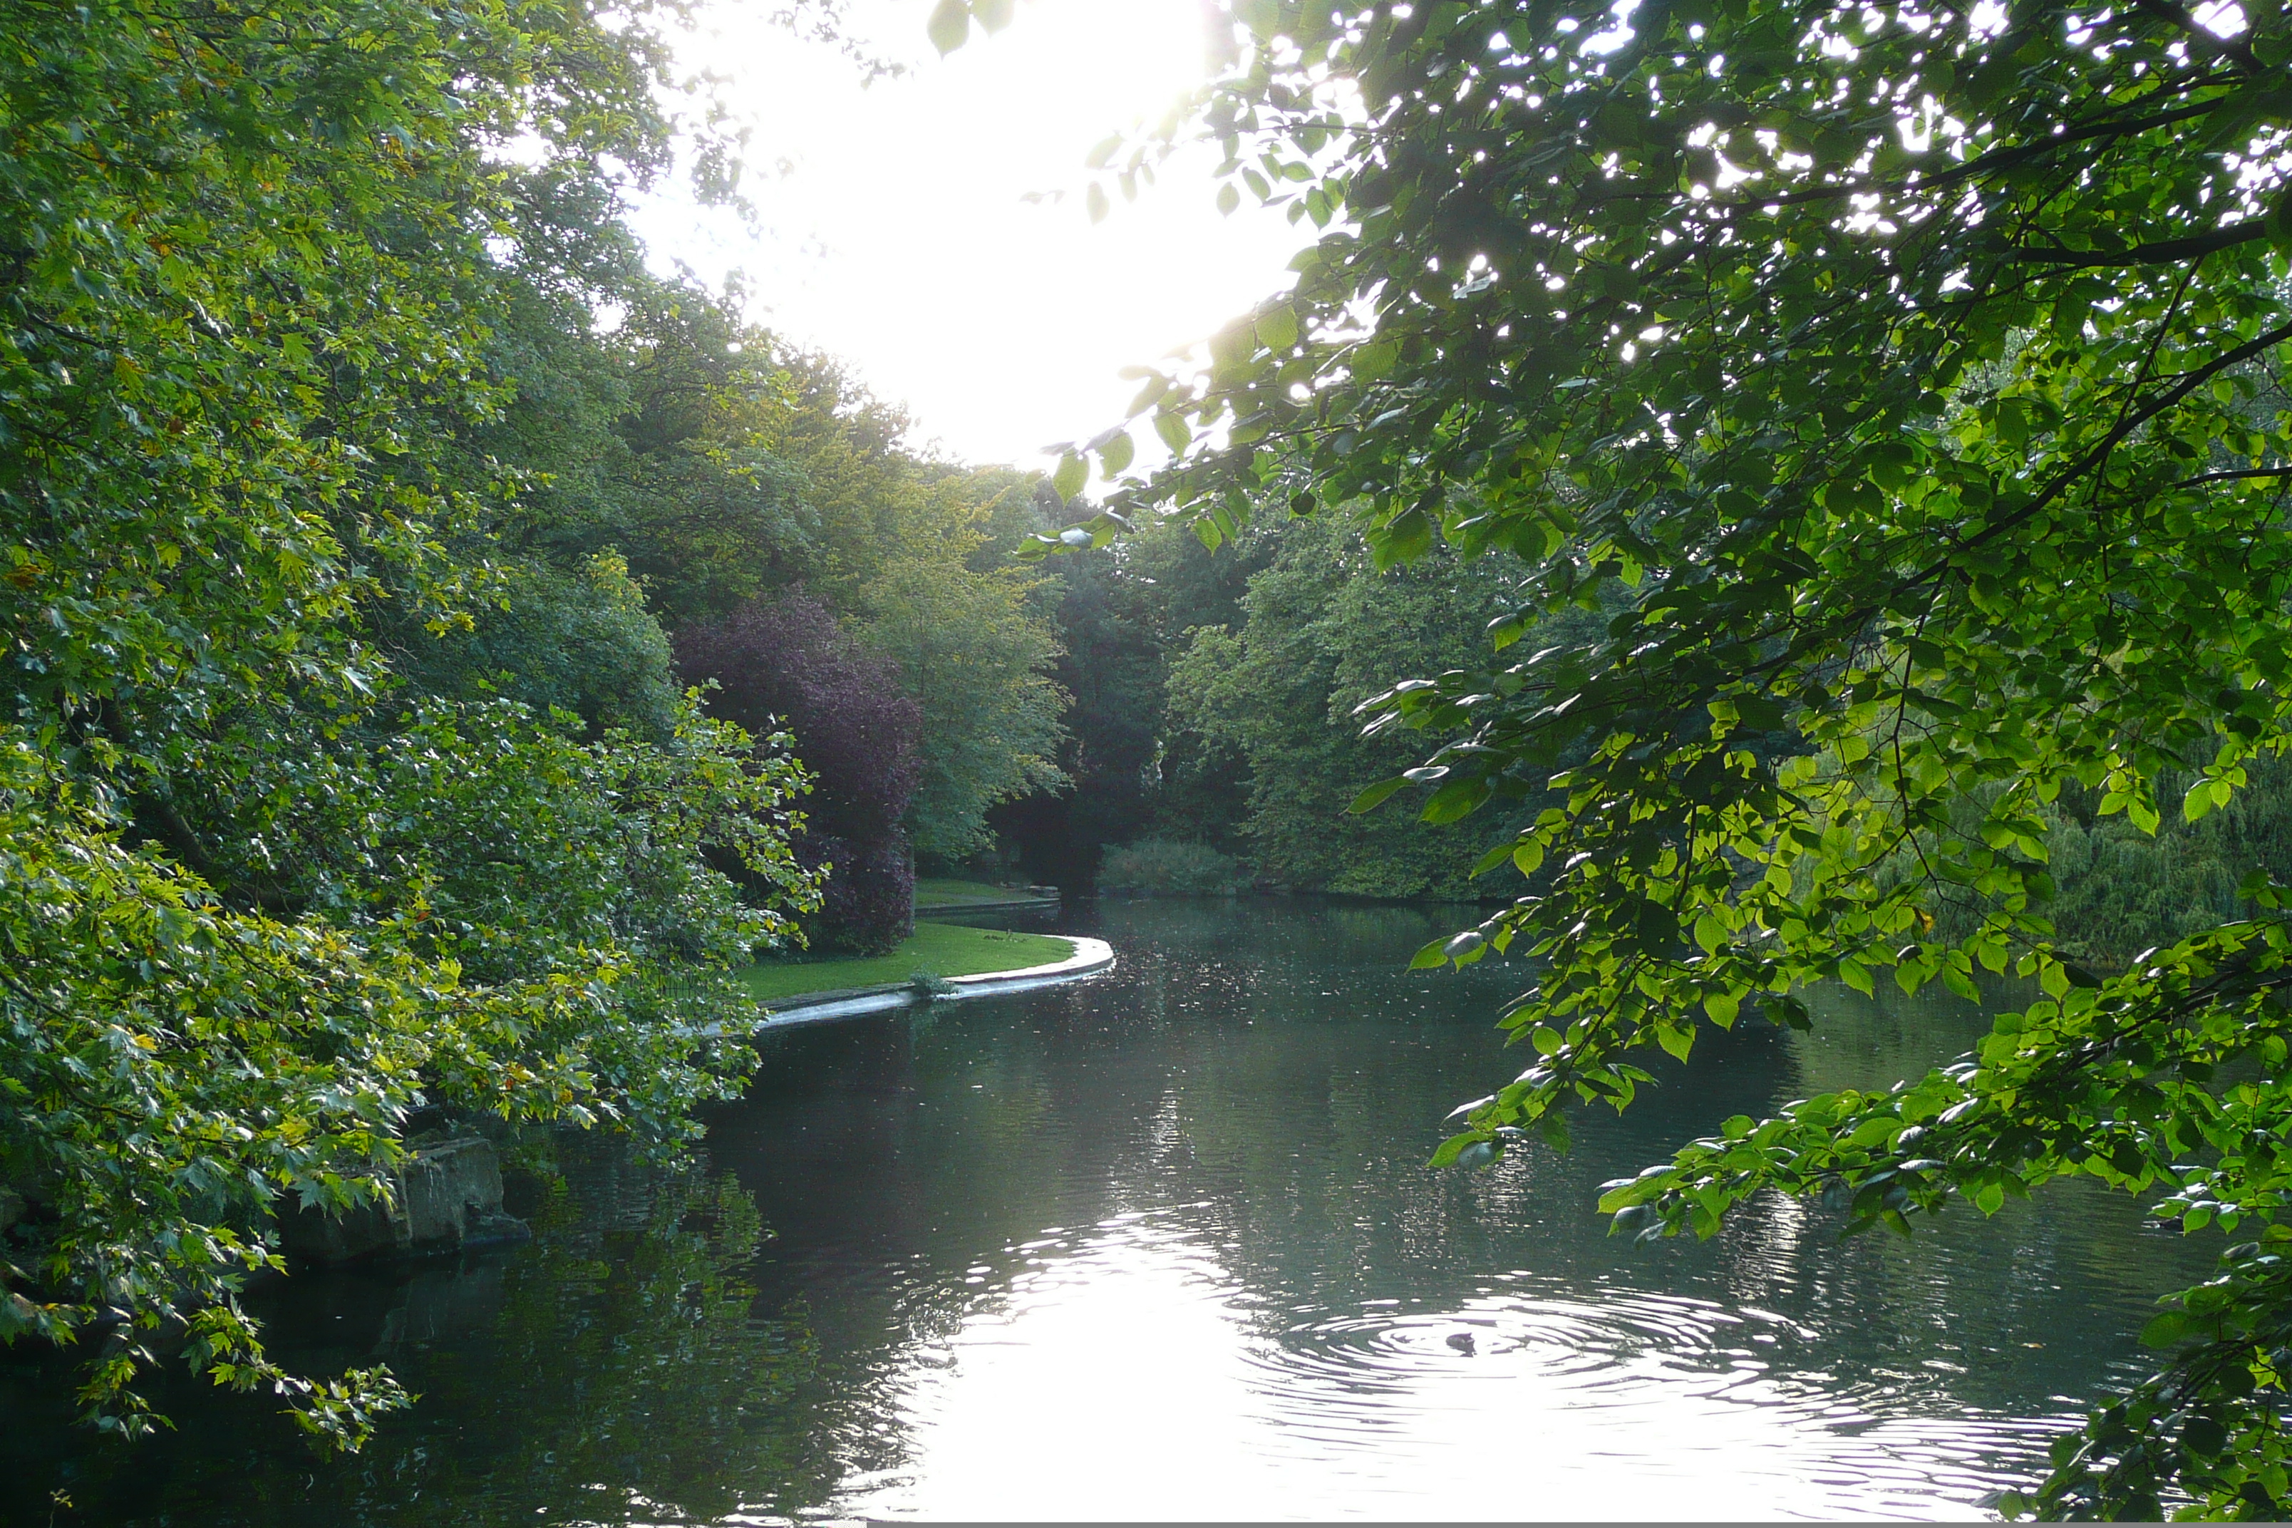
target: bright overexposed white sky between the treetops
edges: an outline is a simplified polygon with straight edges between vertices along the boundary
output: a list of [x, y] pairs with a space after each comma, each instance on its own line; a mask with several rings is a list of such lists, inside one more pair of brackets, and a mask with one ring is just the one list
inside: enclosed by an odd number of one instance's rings
[[1116, 195], [1105, 222], [1084, 211], [1091, 147], [1201, 78], [1199, 0], [1029, 0], [947, 60], [924, 37], [928, 0], [855, 0], [855, 27], [912, 64], [873, 85], [766, 9], [717, 0], [688, 44], [754, 128], [761, 231], [681, 190], [646, 202], [637, 229], [665, 270], [681, 261], [711, 286], [745, 273], [749, 318], [841, 355], [910, 408], [919, 440], [1047, 465], [1043, 444], [1123, 417], [1137, 383], [1121, 367], [1293, 279], [1313, 225], [1247, 197], [1219, 218], [1210, 153], [1174, 160], [1135, 204]]

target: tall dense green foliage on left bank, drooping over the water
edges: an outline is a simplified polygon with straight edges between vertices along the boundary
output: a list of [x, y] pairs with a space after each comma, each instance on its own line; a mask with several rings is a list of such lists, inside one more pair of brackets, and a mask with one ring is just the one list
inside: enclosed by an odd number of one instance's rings
[[814, 896], [800, 770], [626, 568], [502, 557], [500, 341], [626, 275], [667, 53], [523, 0], [0, 16], [0, 1342], [87, 1338], [135, 1434], [172, 1329], [355, 1443], [387, 1372], [238, 1306], [277, 1210], [387, 1194], [422, 1109], [674, 1145]]

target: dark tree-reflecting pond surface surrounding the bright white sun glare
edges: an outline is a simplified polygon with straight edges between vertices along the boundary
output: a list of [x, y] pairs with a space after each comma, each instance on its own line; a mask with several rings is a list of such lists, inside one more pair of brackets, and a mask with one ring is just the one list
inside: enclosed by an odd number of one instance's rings
[[[1779, 1384], [1889, 1413], [2090, 1397], [2136, 1361], [2152, 1294], [2214, 1251], [2141, 1235], [2136, 1203], [2079, 1184], [1996, 1221], [1953, 1210], [1916, 1246], [1840, 1244], [1838, 1216], [1785, 1200], [1710, 1244], [1602, 1235], [1602, 1180], [1733, 1113], [1916, 1074], [1980, 1029], [1964, 1008], [1850, 999], [1822, 1008], [1815, 1035], [1705, 1033], [1691, 1065], [1653, 1068], [1659, 1084], [1627, 1116], [1581, 1113], [1570, 1155], [1432, 1173], [1442, 1116], [1526, 1065], [1490, 1029], [1517, 976], [1396, 971], [1449, 912], [1105, 907], [1100, 932], [1123, 951], [1105, 983], [788, 1031], [749, 1100], [711, 1125], [745, 1194], [575, 1141], [534, 1249], [305, 1276], [270, 1297], [298, 1361], [383, 1356], [424, 1393], [369, 1455], [314, 1464], [250, 1402], [174, 1395], [183, 1432], [156, 1448], [71, 1439], [80, 1521], [795, 1512], [853, 1471], [901, 1464], [917, 1365], [1006, 1301], [1031, 1258], [1128, 1235], [1100, 1228], [1141, 1210], [1208, 1253], [1261, 1342], [1309, 1345], [1316, 1313], [1357, 1317], [1366, 1301], [1430, 1315], [1517, 1294], [1581, 1306], [1591, 1320], [1565, 1329], [1586, 1347], [1627, 1347], [1671, 1338], [1609, 1315], [1708, 1301], [1788, 1317], [1758, 1349]], [[779, 1239], [747, 1262], [759, 1205]], [[1059, 1246], [1029, 1251], [1052, 1228]], [[809, 1306], [754, 1320], [795, 1297]], [[1708, 1354], [1671, 1356], [1724, 1365], [1733, 1345], [1714, 1329]], [[62, 1434], [16, 1416], [0, 1413], [0, 1519], [44, 1521], [32, 1503], [57, 1480]], [[41, 1416], [60, 1427], [60, 1411]]]

